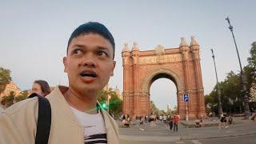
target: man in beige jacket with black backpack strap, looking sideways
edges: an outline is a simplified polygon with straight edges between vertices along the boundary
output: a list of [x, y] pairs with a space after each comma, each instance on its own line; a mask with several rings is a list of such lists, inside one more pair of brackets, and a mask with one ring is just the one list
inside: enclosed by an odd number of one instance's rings
[[34, 93], [6, 109], [0, 116], [0, 143], [118, 144], [118, 125], [97, 101], [114, 75], [114, 48], [106, 26], [78, 26], [63, 58], [69, 86], [55, 87], [46, 98]]

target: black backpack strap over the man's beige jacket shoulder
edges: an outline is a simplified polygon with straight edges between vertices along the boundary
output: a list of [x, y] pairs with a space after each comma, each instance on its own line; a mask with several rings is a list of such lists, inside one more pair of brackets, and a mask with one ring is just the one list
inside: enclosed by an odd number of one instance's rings
[[35, 144], [47, 144], [50, 134], [51, 109], [50, 102], [38, 94], [30, 94], [28, 98], [38, 97], [38, 126]]

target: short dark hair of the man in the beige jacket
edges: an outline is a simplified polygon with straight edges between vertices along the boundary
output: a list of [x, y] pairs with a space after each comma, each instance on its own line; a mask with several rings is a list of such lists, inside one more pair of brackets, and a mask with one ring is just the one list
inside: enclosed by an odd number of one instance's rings
[[[106, 28], [106, 26], [102, 25], [99, 22], [86, 22], [86, 23], [78, 26], [78, 28], [76, 28], [73, 31], [73, 33], [70, 35], [70, 39], [69, 39], [69, 42], [68, 42], [67, 48], [66, 48], [66, 54], [68, 52], [70, 42], [72, 41], [73, 38], [77, 38], [81, 34], [89, 34], [89, 33], [99, 34], [103, 38], [106, 38], [111, 43], [111, 45], [113, 47], [113, 51], [114, 51], [114, 48], [115, 48], [114, 38], [113, 38], [112, 34], [110, 33], [110, 30], [108, 30]], [[114, 59], [114, 55], [113, 55], [113, 59]]]

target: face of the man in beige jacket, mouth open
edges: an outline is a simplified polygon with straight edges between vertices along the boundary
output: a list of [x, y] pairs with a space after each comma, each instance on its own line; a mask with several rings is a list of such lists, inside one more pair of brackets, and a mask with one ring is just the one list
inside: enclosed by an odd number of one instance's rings
[[69, 85], [74, 92], [95, 95], [113, 75], [114, 50], [110, 42], [99, 34], [82, 34], [73, 38], [63, 58]]

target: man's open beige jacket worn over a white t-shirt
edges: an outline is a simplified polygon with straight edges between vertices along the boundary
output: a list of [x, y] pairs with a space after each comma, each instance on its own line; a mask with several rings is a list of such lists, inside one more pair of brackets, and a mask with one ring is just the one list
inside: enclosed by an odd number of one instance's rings
[[[63, 87], [56, 87], [46, 98], [51, 106], [49, 144], [82, 144], [83, 129], [62, 95]], [[64, 88], [65, 89], [65, 88]], [[62, 90], [62, 92], [61, 92]], [[118, 126], [114, 119], [101, 110], [109, 144], [119, 143]], [[0, 115], [0, 144], [34, 144], [38, 119], [38, 98], [29, 98], [6, 109]]]

